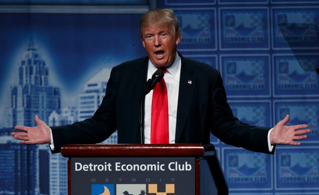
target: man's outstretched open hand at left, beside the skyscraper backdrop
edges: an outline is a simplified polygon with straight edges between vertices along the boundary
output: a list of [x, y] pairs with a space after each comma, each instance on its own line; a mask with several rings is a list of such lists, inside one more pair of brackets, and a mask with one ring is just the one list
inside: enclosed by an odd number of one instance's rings
[[21, 140], [23, 144], [48, 144], [51, 143], [50, 127], [34, 116], [34, 121], [38, 124], [36, 127], [15, 126], [15, 129], [24, 132], [12, 132], [11, 135], [15, 139]]

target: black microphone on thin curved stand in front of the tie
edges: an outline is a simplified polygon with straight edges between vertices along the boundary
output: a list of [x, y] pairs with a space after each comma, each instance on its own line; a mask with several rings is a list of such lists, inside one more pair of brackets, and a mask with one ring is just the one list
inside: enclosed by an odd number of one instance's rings
[[146, 82], [145, 89], [143, 91], [141, 100], [140, 100], [140, 108], [138, 113], [138, 118], [140, 122], [140, 136], [141, 136], [141, 144], [144, 144], [144, 100], [145, 95], [150, 93], [151, 90], [154, 89], [155, 85], [164, 77], [164, 71], [158, 69], [152, 75], [152, 79], [148, 79]]

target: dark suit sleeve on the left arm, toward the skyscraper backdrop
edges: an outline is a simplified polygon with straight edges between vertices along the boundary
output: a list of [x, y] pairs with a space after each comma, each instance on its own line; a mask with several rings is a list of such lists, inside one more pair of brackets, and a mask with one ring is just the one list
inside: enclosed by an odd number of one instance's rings
[[115, 114], [115, 76], [112, 69], [105, 97], [93, 117], [70, 125], [51, 127], [55, 149], [61, 152], [64, 144], [95, 144], [107, 139], [117, 129]]

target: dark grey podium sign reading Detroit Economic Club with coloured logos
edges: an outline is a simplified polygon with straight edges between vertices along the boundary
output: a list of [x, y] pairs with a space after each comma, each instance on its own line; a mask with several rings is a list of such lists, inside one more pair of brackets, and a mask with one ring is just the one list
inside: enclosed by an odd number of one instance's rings
[[195, 194], [195, 157], [71, 158], [71, 186], [72, 195]]

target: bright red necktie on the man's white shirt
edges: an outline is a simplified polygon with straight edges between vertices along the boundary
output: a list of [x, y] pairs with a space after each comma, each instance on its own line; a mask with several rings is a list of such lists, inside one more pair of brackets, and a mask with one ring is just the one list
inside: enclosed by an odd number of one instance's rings
[[[167, 72], [166, 69], [163, 70]], [[164, 78], [153, 89], [151, 144], [168, 144], [168, 100]]]

